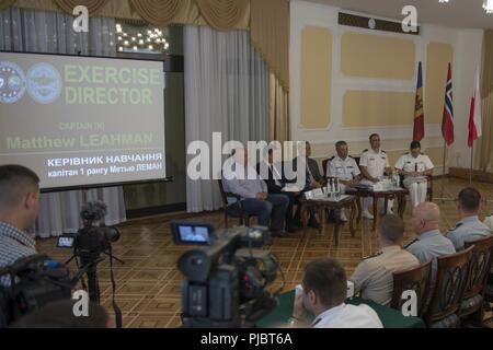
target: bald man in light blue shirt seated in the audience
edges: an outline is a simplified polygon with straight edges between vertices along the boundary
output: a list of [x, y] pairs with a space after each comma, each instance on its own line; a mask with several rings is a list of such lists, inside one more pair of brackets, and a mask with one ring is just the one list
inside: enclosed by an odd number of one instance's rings
[[417, 236], [405, 249], [413, 254], [420, 264], [432, 262], [432, 289], [436, 281], [436, 258], [455, 254], [454, 244], [439, 231], [440, 209], [433, 202], [424, 202], [413, 209], [411, 225]]

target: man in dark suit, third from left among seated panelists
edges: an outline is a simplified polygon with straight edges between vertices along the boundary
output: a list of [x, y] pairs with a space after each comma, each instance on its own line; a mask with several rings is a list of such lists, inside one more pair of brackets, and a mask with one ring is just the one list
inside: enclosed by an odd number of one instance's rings
[[[305, 148], [301, 147], [299, 149], [300, 153], [300, 164], [306, 167], [306, 184], [302, 192], [307, 192], [309, 190], [321, 188], [324, 183], [323, 176], [320, 174], [319, 163], [316, 160], [311, 159], [311, 144], [310, 142], [305, 142]], [[298, 158], [293, 160], [293, 171], [298, 171]], [[296, 213], [295, 220], [299, 220], [299, 212]], [[319, 223], [317, 222], [317, 218], [314, 215], [314, 209], [310, 209], [310, 221], [308, 224], [310, 228], [319, 229]]]

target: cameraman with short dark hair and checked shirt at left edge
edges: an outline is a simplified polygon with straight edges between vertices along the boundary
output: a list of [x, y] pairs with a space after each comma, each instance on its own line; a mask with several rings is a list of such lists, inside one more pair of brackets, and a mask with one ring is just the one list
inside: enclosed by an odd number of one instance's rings
[[[34, 225], [39, 207], [39, 177], [21, 165], [0, 166], [0, 268], [36, 254], [36, 243], [26, 232]], [[5, 277], [0, 284], [9, 285]]]

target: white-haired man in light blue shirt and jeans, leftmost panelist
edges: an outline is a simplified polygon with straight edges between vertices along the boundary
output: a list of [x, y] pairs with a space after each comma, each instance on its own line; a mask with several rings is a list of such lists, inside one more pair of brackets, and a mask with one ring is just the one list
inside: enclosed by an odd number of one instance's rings
[[[285, 236], [284, 222], [289, 199], [283, 195], [270, 195], [267, 185], [259, 178], [256, 171], [249, 164], [245, 149], [233, 152], [234, 162], [225, 164], [222, 186], [225, 191], [241, 197], [241, 207], [259, 218], [259, 224], [268, 226], [274, 236]], [[232, 210], [239, 209], [236, 198], [228, 198]]]

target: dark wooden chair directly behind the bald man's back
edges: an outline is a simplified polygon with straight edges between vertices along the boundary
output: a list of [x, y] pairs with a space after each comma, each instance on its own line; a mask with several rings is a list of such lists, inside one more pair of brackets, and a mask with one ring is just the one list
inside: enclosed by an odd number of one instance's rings
[[425, 314], [431, 328], [457, 328], [460, 303], [469, 278], [473, 247], [437, 258], [437, 279], [433, 298]]

